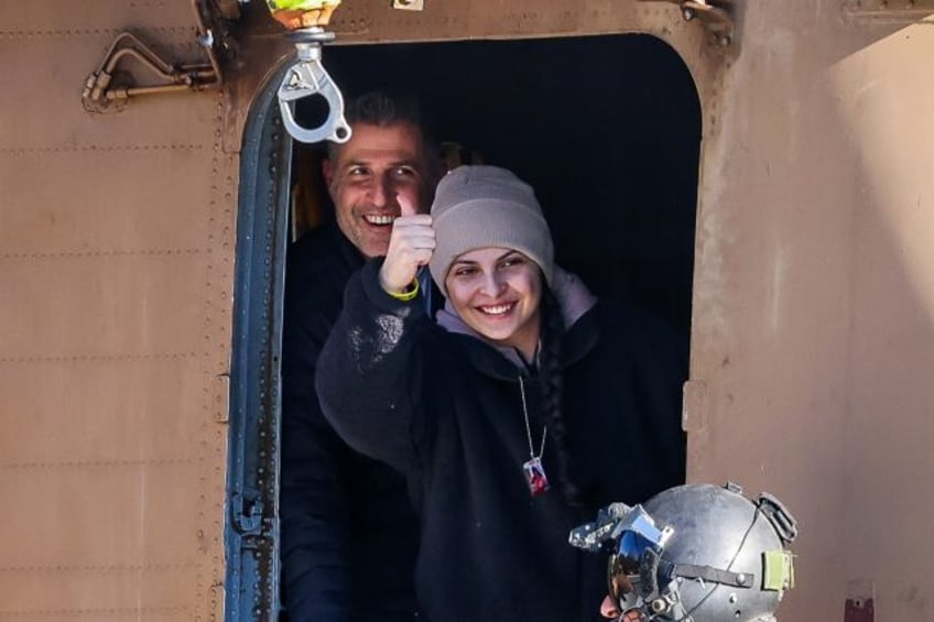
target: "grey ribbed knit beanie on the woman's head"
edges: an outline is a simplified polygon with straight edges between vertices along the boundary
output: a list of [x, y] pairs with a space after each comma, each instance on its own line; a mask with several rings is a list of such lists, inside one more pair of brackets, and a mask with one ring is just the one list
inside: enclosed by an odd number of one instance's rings
[[444, 280], [459, 255], [499, 247], [524, 253], [551, 284], [554, 245], [532, 186], [497, 166], [458, 166], [438, 184], [432, 204], [435, 252], [432, 279], [447, 296]]

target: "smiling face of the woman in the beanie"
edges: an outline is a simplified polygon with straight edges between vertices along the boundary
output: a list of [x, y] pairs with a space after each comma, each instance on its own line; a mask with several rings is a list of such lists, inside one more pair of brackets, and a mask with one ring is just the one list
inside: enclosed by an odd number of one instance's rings
[[444, 281], [464, 323], [532, 360], [541, 334], [542, 271], [519, 251], [488, 247], [454, 260]]

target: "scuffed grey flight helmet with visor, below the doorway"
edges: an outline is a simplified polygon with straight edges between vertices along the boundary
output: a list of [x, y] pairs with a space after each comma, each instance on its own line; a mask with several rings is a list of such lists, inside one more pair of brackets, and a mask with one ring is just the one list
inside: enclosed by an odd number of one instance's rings
[[797, 526], [774, 496], [734, 483], [685, 484], [644, 504], [613, 503], [571, 533], [609, 550], [609, 594], [623, 615], [658, 622], [774, 622], [794, 585]]

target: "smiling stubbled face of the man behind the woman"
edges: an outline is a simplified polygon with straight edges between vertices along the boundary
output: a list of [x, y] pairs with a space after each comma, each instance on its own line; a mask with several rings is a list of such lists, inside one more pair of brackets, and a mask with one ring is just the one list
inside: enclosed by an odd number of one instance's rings
[[[363, 255], [385, 254], [401, 205], [419, 211], [425, 208], [425, 168], [419, 129], [405, 122], [357, 123], [336, 160], [325, 161], [324, 177], [337, 226]], [[400, 201], [400, 196], [408, 200]]]

